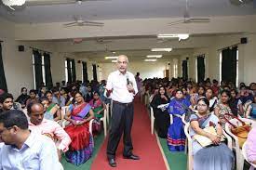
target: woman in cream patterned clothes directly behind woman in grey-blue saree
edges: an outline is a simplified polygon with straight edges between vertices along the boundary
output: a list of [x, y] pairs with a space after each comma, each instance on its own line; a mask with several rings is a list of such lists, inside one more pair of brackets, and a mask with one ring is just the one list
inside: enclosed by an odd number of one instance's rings
[[231, 98], [230, 91], [222, 90], [221, 99], [219, 100], [219, 103], [214, 109], [215, 115], [220, 119], [222, 128], [225, 128], [226, 120], [232, 119], [232, 116], [228, 115], [228, 114], [233, 114], [229, 107], [230, 98]]

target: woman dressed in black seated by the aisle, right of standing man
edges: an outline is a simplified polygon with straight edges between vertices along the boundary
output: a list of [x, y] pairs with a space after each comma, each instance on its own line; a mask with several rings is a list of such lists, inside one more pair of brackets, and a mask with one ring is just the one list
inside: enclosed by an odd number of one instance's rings
[[153, 98], [150, 105], [154, 111], [155, 117], [155, 130], [158, 137], [167, 138], [168, 136], [168, 126], [169, 126], [169, 114], [168, 111], [162, 111], [157, 108], [161, 104], [167, 104], [169, 102], [168, 95], [164, 86], [159, 87], [158, 93]]

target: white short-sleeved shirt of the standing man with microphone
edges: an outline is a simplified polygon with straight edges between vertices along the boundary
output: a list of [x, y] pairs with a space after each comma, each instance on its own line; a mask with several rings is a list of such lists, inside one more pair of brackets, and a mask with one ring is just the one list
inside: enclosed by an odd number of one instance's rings
[[[127, 78], [133, 86], [135, 93], [128, 92]], [[119, 71], [111, 72], [108, 76], [106, 89], [113, 89], [110, 98], [121, 103], [132, 102], [134, 96], [138, 93], [136, 81], [134, 75], [131, 72], [127, 72], [126, 74], [122, 74]]]

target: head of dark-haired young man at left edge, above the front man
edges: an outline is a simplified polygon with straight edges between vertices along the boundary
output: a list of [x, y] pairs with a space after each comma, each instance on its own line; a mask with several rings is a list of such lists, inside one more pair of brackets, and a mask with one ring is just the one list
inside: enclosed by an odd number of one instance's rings
[[0, 96], [0, 112], [9, 111], [13, 108], [13, 97], [9, 93]]

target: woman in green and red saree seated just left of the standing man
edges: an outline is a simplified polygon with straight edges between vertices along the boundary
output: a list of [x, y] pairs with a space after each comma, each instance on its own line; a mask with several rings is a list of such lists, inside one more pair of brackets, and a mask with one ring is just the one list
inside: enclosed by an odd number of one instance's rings
[[104, 116], [104, 110], [106, 109], [106, 105], [101, 100], [99, 92], [93, 93], [93, 97], [89, 101], [89, 105], [91, 106], [95, 117], [92, 129], [94, 132], [99, 133], [101, 131], [101, 117]]

